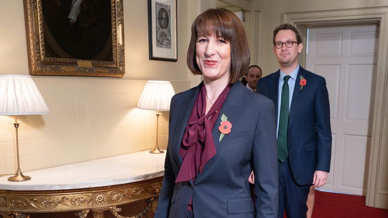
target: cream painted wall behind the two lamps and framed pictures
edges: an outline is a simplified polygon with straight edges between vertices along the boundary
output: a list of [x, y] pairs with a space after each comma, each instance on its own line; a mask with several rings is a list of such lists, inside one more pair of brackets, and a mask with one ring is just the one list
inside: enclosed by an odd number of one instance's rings
[[[155, 145], [156, 117], [135, 108], [147, 80], [172, 81], [188, 89], [188, 1], [177, 4], [178, 61], [150, 61], [147, 1], [124, 1], [125, 76], [122, 79], [34, 76], [49, 115], [19, 116], [23, 172], [140, 151]], [[28, 75], [23, 1], [0, 1], [0, 74]], [[0, 116], [0, 174], [16, 172], [12, 117]], [[159, 119], [166, 148], [168, 112]]]

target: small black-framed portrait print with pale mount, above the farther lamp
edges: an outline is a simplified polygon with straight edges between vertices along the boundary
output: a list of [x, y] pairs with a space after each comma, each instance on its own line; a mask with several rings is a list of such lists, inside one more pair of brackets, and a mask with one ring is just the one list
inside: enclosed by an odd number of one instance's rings
[[176, 0], [148, 0], [150, 60], [177, 61]]

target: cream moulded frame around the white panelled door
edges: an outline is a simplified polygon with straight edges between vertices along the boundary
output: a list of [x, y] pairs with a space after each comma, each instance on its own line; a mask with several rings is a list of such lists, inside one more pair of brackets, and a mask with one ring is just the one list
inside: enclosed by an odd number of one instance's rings
[[[307, 39], [307, 29], [311, 27], [334, 27], [341, 25], [376, 24], [379, 28], [377, 51], [376, 88], [374, 93], [372, 132], [369, 157], [367, 162], [368, 183], [366, 191], [366, 205], [384, 207], [381, 199], [388, 199], [388, 193], [379, 191], [380, 151], [384, 127], [385, 93], [387, 91], [387, 57], [388, 57], [388, 7], [373, 7], [359, 9], [340, 9], [310, 12], [283, 13], [283, 23], [294, 25], [301, 31], [304, 41]], [[306, 66], [306, 55], [301, 53], [300, 64]], [[377, 200], [379, 199], [379, 200]], [[380, 201], [380, 202], [379, 202]], [[386, 206], [385, 206], [386, 207]]]

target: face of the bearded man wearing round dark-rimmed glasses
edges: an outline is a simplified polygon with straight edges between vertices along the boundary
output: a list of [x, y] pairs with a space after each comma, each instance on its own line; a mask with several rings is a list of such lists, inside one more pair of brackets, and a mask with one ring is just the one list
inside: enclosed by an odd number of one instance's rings
[[[280, 30], [275, 36], [276, 42], [297, 41], [297, 36], [292, 30]], [[298, 64], [298, 55], [303, 49], [302, 43], [294, 43], [292, 47], [287, 47], [285, 44], [281, 48], [273, 46], [273, 51], [280, 66], [293, 67]]]

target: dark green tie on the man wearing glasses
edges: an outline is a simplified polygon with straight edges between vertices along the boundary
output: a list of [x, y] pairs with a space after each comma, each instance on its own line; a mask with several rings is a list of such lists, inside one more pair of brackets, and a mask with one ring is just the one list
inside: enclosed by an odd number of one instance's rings
[[277, 132], [277, 153], [280, 162], [288, 156], [287, 151], [287, 131], [288, 131], [288, 105], [289, 105], [289, 89], [288, 79], [290, 76], [283, 78], [284, 84], [281, 88], [281, 102], [280, 102], [280, 116], [279, 116], [279, 130]]

